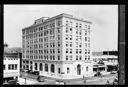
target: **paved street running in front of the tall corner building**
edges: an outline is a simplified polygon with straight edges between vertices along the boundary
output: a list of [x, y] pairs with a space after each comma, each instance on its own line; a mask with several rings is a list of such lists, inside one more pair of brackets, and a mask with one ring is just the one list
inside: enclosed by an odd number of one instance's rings
[[[22, 77], [24, 78], [24, 73], [21, 73]], [[86, 83], [83, 83], [82, 79], [78, 80], [70, 80], [70, 81], [66, 81], [67, 85], [93, 85], [93, 84], [106, 84], [107, 80], [110, 81], [110, 83], [113, 82], [114, 78], [117, 76], [117, 74], [108, 74], [108, 75], [104, 75], [102, 77], [90, 77], [87, 78], [88, 80], [86, 81]], [[27, 74], [27, 78], [30, 79], [37, 79], [37, 75], [32, 75], [32, 74]], [[55, 85], [55, 80], [50, 80], [47, 77], [43, 77], [45, 79], [45, 82], [37, 82], [37, 84], [35, 85], [45, 85], [45, 84], [51, 84], [51, 85]]]

